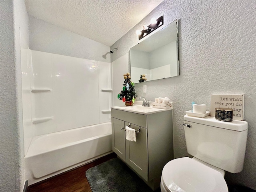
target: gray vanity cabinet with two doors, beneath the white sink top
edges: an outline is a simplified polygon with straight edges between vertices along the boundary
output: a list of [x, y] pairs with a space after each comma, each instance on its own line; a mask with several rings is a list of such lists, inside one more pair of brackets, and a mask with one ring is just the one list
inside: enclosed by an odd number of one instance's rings
[[[111, 109], [112, 150], [134, 172], [156, 190], [162, 168], [173, 159], [172, 110], [138, 114]], [[125, 126], [136, 130], [136, 142], [126, 140]]]

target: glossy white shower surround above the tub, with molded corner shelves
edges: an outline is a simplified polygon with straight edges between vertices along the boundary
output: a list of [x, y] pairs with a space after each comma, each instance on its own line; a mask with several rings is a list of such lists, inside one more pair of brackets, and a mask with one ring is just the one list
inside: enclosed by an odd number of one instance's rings
[[112, 89], [110, 63], [26, 49], [21, 55], [25, 155], [34, 136], [110, 122], [112, 92], [102, 91]]

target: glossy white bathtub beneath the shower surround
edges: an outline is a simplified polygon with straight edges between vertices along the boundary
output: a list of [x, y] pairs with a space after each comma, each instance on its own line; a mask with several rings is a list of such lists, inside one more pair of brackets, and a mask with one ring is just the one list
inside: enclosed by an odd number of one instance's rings
[[34, 137], [25, 156], [29, 185], [111, 153], [111, 132], [108, 122]]

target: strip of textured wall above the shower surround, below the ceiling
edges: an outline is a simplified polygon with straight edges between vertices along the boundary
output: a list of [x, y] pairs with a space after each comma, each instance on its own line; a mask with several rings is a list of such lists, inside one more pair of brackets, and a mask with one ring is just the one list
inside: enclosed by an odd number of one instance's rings
[[110, 47], [29, 16], [30, 49], [110, 62]]

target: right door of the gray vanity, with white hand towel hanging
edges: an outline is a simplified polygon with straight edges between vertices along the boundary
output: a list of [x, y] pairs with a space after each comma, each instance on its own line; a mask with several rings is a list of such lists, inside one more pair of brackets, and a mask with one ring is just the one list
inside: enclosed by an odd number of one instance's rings
[[[128, 123], [125, 123], [128, 125]], [[130, 124], [138, 130], [139, 126]], [[144, 180], [148, 181], [148, 134], [147, 129], [140, 127], [136, 133], [136, 142], [126, 140], [126, 163], [137, 172]]]

